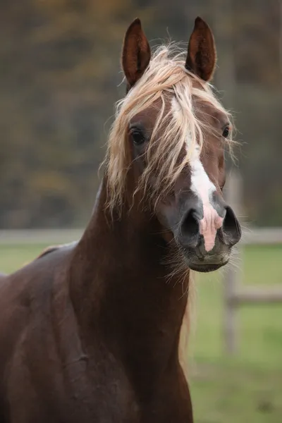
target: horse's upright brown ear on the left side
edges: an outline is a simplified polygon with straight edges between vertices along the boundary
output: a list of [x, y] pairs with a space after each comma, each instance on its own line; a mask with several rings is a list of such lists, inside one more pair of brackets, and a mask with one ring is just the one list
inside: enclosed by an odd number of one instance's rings
[[149, 42], [142, 31], [140, 19], [128, 27], [123, 41], [121, 62], [129, 87], [133, 87], [145, 72], [151, 59]]

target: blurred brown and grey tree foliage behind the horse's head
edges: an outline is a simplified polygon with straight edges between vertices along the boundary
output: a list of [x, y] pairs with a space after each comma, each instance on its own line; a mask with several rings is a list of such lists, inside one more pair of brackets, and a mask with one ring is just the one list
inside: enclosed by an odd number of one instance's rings
[[232, 49], [246, 213], [282, 224], [279, 1], [228, 3], [225, 21], [217, 13], [225, 0], [2, 0], [0, 226], [85, 222], [114, 102], [124, 94], [119, 56], [128, 23], [139, 16], [153, 44], [187, 42], [197, 15], [220, 29], [219, 65], [223, 44]]

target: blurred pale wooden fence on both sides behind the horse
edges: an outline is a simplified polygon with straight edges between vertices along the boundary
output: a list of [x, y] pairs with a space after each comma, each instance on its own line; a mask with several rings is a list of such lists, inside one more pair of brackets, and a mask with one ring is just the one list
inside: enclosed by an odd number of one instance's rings
[[[237, 173], [228, 178], [225, 197], [233, 207], [238, 216], [242, 216], [242, 184]], [[22, 231], [0, 231], [0, 244], [62, 244], [71, 243], [80, 239], [82, 229], [60, 229], [60, 230], [22, 230]], [[244, 245], [261, 244], [274, 245], [282, 244], [282, 228], [248, 228], [243, 233], [240, 241], [238, 255], [242, 255]], [[282, 259], [282, 257], [281, 257]], [[233, 354], [238, 348], [238, 330], [236, 327], [236, 314], [240, 305], [253, 305], [256, 303], [282, 303], [282, 288], [258, 288], [253, 285], [243, 287], [243, 260], [240, 260], [240, 269], [228, 266], [223, 273], [223, 337], [226, 353]], [[282, 283], [282, 275], [281, 275]]]

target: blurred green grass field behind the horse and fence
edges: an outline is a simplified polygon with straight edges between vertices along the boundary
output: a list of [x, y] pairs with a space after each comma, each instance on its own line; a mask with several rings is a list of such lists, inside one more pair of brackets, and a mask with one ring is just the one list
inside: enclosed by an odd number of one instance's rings
[[[29, 262], [45, 245], [0, 245], [0, 269]], [[244, 283], [282, 284], [282, 246], [246, 247]], [[196, 423], [282, 422], [282, 304], [238, 311], [236, 357], [223, 353], [221, 273], [196, 279], [195, 329], [190, 338], [191, 393]]]

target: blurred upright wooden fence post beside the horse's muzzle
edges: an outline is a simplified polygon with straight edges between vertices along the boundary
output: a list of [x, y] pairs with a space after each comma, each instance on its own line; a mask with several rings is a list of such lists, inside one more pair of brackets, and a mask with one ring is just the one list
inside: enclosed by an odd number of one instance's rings
[[[235, 214], [240, 216], [241, 210], [241, 178], [238, 171], [233, 171], [226, 180], [225, 197], [227, 204], [230, 204]], [[241, 249], [238, 249], [236, 261], [241, 262]], [[238, 338], [236, 331], [236, 305], [234, 294], [240, 285], [241, 274], [237, 267], [228, 264], [223, 271], [223, 341], [225, 352], [233, 355], [238, 349]]]

